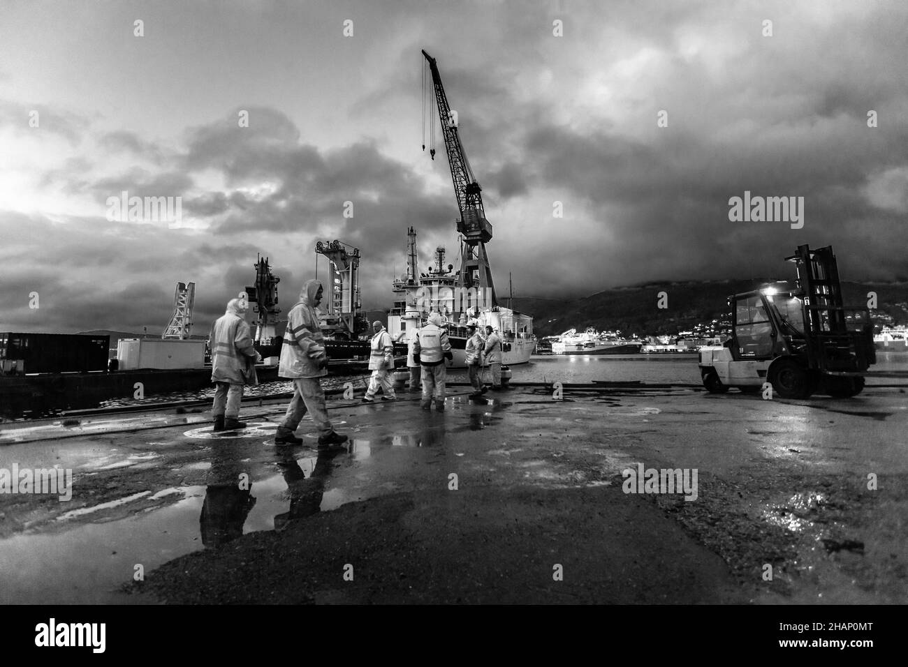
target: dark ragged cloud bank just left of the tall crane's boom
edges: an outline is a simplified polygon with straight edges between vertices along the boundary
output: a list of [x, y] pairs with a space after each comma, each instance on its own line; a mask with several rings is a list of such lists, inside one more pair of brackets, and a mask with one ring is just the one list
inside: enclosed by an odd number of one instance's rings
[[[324, 233], [368, 245], [372, 257], [380, 258], [405, 247], [410, 224], [424, 231], [452, 227], [453, 196], [423, 193], [410, 167], [391, 160], [375, 142], [321, 152], [299, 143], [300, 132], [283, 114], [253, 111], [249, 129], [235, 131], [225, 120], [190, 132], [186, 163], [197, 171], [220, 169], [240, 189], [185, 203], [202, 216], [226, 212], [212, 222], [219, 234]], [[255, 192], [262, 181], [271, 190]], [[347, 201], [352, 217], [344, 217]]]

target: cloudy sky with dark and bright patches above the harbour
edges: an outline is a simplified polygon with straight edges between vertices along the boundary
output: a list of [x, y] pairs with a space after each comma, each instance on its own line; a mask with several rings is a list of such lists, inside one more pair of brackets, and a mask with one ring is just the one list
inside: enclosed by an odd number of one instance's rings
[[[0, 330], [158, 333], [193, 280], [207, 331], [259, 252], [289, 308], [316, 240], [359, 247], [363, 305], [390, 307], [408, 226], [423, 266], [457, 248], [422, 48], [499, 294], [508, 271], [561, 298], [782, 279], [800, 243], [833, 244], [845, 279], [906, 280], [905, 34], [899, 1], [5, 0]], [[121, 191], [182, 197], [182, 224], [108, 220]], [[729, 221], [745, 191], [804, 197], [804, 227]]]

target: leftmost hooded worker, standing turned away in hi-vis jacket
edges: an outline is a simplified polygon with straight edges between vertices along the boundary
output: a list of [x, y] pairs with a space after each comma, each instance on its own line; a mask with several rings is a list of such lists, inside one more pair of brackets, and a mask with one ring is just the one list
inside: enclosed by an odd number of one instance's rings
[[245, 428], [240, 421], [242, 387], [257, 385], [255, 362], [262, 361], [262, 355], [252, 345], [252, 330], [246, 322], [249, 303], [245, 299], [231, 299], [227, 311], [212, 324], [208, 345], [212, 350], [212, 382], [214, 390], [215, 431], [231, 431]]

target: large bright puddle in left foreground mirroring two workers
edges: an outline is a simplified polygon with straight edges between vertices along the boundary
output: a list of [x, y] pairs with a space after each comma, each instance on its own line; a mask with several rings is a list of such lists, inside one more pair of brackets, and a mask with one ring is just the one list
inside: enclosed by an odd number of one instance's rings
[[[269, 463], [273, 473], [248, 489], [213, 476], [208, 486], [144, 491], [57, 517], [58, 527], [72, 522], [68, 530], [0, 540], [0, 604], [153, 602], [121, 590], [137, 564], [149, 574], [183, 554], [281, 530], [362, 497], [361, 490], [352, 497], [331, 488], [331, 456], [296, 456]], [[135, 510], [119, 518], [132, 504]]]

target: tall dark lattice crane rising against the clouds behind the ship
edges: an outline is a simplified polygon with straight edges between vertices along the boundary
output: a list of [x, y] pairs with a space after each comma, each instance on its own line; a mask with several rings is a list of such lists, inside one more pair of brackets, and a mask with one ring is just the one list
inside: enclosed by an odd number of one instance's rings
[[[451, 169], [451, 180], [454, 182], [454, 194], [457, 197], [460, 211], [457, 231], [463, 234], [465, 249], [460, 262], [459, 283], [467, 289], [482, 289], [483, 294], [489, 295], [490, 305], [496, 307], [498, 299], [492, 280], [492, 270], [489, 267], [489, 255], [486, 253], [486, 243], [492, 238], [492, 225], [486, 220], [486, 211], [482, 206], [482, 188], [479, 187], [479, 181], [473, 175], [469, 160], [467, 160], [467, 153], [464, 152], [463, 145], [460, 143], [458, 113], [451, 111], [448, 96], [441, 84], [438, 64], [436, 64], [435, 58], [427, 54], [425, 50], [422, 51], [422, 54], [426, 57], [429, 66], [434, 91], [433, 96], [424, 90], [424, 93], [429, 95], [429, 123], [433, 123], [431, 108], [434, 99], [439, 111], [441, 132], [444, 136], [445, 150], [448, 152]], [[423, 83], [425, 83], [425, 78]], [[423, 111], [426, 109], [425, 102], [424, 100]], [[434, 124], [430, 127], [434, 128]], [[434, 131], [430, 134], [434, 137]], [[423, 137], [422, 149], [426, 149], [425, 137]], [[435, 146], [432, 142], [429, 145], [429, 154], [434, 160]]]

